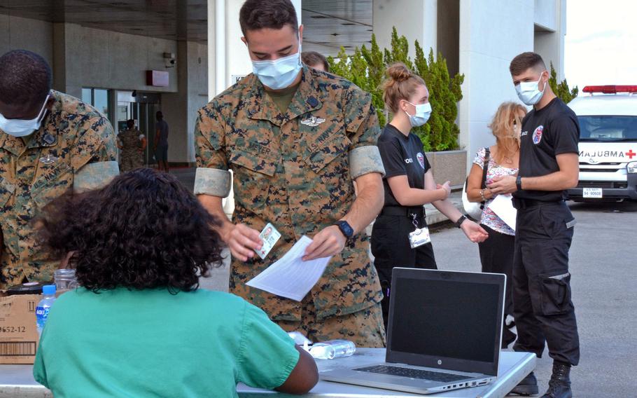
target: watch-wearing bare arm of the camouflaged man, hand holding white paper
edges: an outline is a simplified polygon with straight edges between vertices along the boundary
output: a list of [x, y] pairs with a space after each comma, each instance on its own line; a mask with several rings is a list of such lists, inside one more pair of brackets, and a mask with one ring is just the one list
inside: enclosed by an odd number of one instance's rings
[[[370, 225], [383, 207], [384, 190], [381, 174], [372, 172], [356, 179], [358, 196], [342, 219], [353, 228], [356, 235]], [[328, 226], [314, 235], [311, 245], [305, 249], [303, 261], [333, 256], [345, 247], [346, 238], [338, 226]]]

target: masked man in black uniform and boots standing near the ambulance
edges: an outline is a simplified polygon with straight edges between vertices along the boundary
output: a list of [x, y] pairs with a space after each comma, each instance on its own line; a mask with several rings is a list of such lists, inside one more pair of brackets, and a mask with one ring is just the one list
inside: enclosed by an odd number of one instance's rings
[[[570, 398], [570, 366], [580, 360], [575, 308], [570, 301], [568, 249], [575, 219], [566, 190], [579, 174], [577, 117], [552, 92], [542, 57], [522, 53], [510, 64], [517, 94], [533, 109], [522, 121], [519, 174], [496, 179], [494, 194], [513, 193], [517, 209], [513, 264], [513, 313], [518, 338], [513, 349], [553, 358], [549, 388], [542, 397]], [[538, 393], [529, 374], [512, 390]]]

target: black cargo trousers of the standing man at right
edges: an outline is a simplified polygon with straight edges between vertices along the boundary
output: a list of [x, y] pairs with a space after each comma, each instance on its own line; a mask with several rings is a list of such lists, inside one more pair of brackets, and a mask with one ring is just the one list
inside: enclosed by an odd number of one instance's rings
[[541, 357], [547, 343], [554, 361], [577, 365], [580, 341], [568, 271], [575, 220], [563, 201], [514, 199], [514, 206], [513, 349]]

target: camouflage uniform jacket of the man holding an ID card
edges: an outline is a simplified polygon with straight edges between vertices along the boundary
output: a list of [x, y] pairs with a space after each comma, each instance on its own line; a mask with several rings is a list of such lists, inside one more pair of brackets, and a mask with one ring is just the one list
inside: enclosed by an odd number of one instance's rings
[[[352, 180], [384, 174], [371, 96], [337, 76], [304, 67], [282, 114], [250, 74], [200, 110], [195, 128], [195, 193], [224, 197], [234, 172], [232, 221], [261, 231], [271, 222], [281, 239], [265, 260], [232, 261], [230, 291], [274, 320], [301, 320], [301, 304], [246, 286], [302, 236], [335, 224], [354, 199]], [[382, 299], [365, 233], [348, 240], [311, 289], [318, 317], [363, 310]]]

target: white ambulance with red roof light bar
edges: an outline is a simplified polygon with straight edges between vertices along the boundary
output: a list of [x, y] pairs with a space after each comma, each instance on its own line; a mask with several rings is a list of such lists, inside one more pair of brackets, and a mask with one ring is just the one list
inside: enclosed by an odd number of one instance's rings
[[570, 200], [637, 200], [637, 85], [587, 85], [568, 103], [580, 122], [580, 181]]

